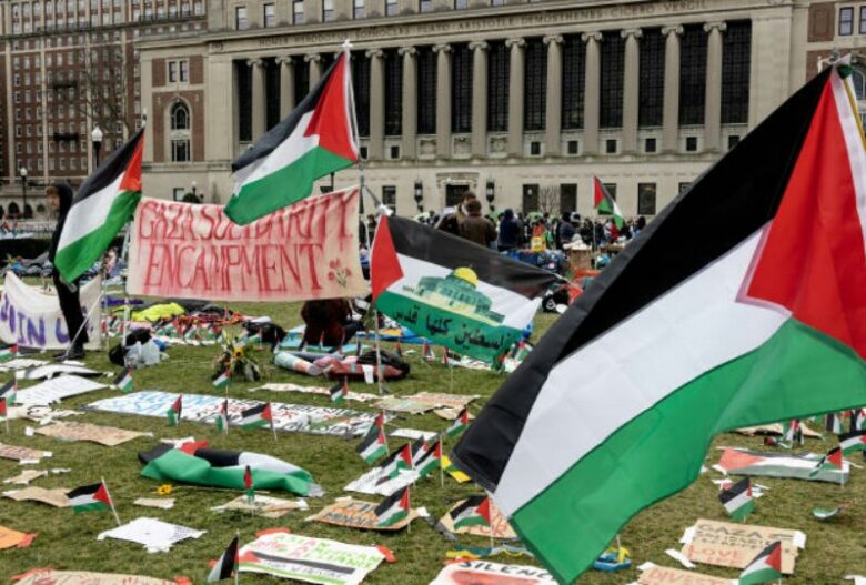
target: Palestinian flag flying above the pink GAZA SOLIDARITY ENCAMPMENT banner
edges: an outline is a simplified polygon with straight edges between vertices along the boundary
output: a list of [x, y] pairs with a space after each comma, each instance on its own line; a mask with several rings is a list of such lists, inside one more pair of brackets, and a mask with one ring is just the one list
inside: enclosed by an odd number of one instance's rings
[[351, 85], [344, 52], [289, 118], [232, 163], [229, 219], [245, 225], [296, 203], [316, 179], [358, 162]]

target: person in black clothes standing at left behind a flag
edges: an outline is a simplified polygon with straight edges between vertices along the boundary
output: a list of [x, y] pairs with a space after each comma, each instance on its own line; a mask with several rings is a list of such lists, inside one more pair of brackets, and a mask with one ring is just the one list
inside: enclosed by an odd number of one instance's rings
[[[48, 199], [49, 208], [58, 214], [57, 228], [54, 228], [54, 233], [51, 234], [51, 245], [48, 249], [48, 260], [53, 264], [57, 248], [60, 243], [60, 234], [63, 232], [67, 214], [72, 206], [72, 188], [68, 183], [54, 183], [46, 189], [46, 198]], [[84, 326], [84, 315], [81, 311], [81, 300], [79, 299], [80, 279], [66, 282], [57, 268], [53, 269], [51, 276], [54, 281], [60, 310], [63, 312], [70, 339], [69, 349], [56, 357], [59, 360], [80, 360], [84, 356], [84, 344], [89, 341], [88, 330]]]

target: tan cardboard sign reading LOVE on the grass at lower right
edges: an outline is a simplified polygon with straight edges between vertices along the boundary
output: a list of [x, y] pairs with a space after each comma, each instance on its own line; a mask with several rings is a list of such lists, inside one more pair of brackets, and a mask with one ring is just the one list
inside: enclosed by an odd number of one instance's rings
[[681, 539], [689, 561], [732, 568], [745, 568], [775, 541], [782, 542], [782, 573], [791, 575], [798, 549], [806, 545], [799, 531], [702, 518]]

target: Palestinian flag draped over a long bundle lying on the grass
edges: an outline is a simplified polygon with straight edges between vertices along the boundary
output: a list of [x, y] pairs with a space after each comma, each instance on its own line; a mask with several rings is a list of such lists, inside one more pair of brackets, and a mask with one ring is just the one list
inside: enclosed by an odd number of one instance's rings
[[151, 480], [246, 490], [244, 472], [249, 466], [256, 490], [284, 490], [302, 496], [321, 492], [306, 470], [260, 453], [162, 444], [139, 453], [139, 460], [144, 464], [141, 475]]

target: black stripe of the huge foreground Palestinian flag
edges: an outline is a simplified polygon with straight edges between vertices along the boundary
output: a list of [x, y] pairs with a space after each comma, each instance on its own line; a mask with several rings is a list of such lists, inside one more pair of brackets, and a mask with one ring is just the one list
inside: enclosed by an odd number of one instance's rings
[[[554, 365], [774, 218], [832, 70], [804, 85], [663, 209], [553, 324], [457, 443], [451, 458], [461, 470], [495, 491]], [[696, 225], [699, 238], [684, 244]], [[574, 390], [580, 391], [576, 382]]]

